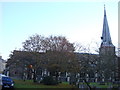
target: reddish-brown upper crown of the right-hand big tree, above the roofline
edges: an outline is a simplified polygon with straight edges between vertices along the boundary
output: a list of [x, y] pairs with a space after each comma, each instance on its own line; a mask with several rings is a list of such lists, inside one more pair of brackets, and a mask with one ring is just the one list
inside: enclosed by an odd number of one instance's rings
[[73, 52], [74, 46], [64, 36], [49, 36], [45, 39], [44, 47], [50, 51]]

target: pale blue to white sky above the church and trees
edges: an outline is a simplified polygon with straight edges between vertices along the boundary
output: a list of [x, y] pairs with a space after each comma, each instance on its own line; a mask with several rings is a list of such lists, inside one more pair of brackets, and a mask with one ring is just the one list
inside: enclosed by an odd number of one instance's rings
[[[6, 1], [6, 2], [5, 2]], [[113, 44], [118, 47], [118, 1], [0, 2], [0, 54], [11, 51], [33, 34], [62, 35], [85, 46], [101, 42], [104, 4]], [[32, 0], [31, 0], [32, 1]], [[99, 47], [98, 47], [99, 48]]]

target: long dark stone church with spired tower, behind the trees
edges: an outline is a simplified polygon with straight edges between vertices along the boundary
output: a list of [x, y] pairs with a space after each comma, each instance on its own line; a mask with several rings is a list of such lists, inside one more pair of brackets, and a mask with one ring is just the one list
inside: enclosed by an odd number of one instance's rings
[[[112, 43], [110, 35], [105, 6], [101, 40], [102, 42], [99, 48], [99, 54], [75, 53], [77, 56], [77, 60], [80, 62], [80, 65], [84, 64], [85, 67], [85, 69], [83, 68], [83, 70], [79, 70], [79, 72], [76, 74], [77, 79], [79, 78], [79, 80], [77, 81], [80, 82], [83, 78], [85, 78], [88, 82], [114, 82], [118, 80], [118, 76], [120, 76], [118, 59], [115, 53], [115, 46]], [[13, 56], [17, 54], [22, 57], [23, 53], [26, 55], [28, 54], [28, 52], [24, 51], [14, 51]], [[47, 57], [46, 53], [39, 53], [39, 56], [44, 60]], [[7, 68], [9, 69], [8, 71], [12, 77], [22, 78], [25, 69], [24, 67], [14, 67], [14, 65], [16, 64], [15, 60], [14, 63], [10, 65], [7, 64]], [[8, 60], [9, 63], [11, 61], [11, 59]], [[44, 77], [43, 74], [48, 75], [48, 72], [49, 71], [47, 71], [46, 69], [41, 69], [41, 73], [38, 74], [38, 76]], [[73, 81], [76, 77], [73, 77]], [[70, 82], [70, 79], [72, 79], [72, 77], [69, 76], [69, 72], [65, 72], [64, 75], [60, 76], [60, 78], [64, 78], [63, 81], [66, 80], [67, 82]]]

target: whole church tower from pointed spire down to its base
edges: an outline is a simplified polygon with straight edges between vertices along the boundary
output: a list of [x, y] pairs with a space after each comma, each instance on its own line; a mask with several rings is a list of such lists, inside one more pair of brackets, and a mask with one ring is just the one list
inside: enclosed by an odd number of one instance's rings
[[101, 46], [99, 48], [100, 56], [100, 77], [103, 81], [114, 80], [115, 78], [115, 46], [112, 44], [106, 9], [104, 6], [103, 31], [101, 37]]

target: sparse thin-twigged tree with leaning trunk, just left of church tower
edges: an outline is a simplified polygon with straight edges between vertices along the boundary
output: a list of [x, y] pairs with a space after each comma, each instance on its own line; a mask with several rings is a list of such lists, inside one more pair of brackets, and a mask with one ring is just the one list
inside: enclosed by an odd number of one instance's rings
[[82, 79], [87, 86], [91, 89], [89, 83], [86, 78], [93, 78], [96, 73], [97, 60], [98, 55], [91, 53], [91, 44], [88, 44], [87, 47], [81, 44], [75, 44], [75, 48], [78, 52], [78, 61], [79, 61], [79, 72], [80, 77], [78, 79]]

